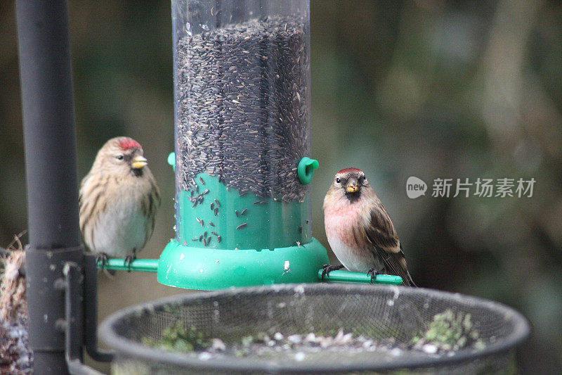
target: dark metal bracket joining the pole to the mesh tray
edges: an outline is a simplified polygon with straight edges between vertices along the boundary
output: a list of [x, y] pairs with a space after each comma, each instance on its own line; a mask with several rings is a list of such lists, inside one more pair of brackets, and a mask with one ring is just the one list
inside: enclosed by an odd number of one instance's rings
[[97, 267], [94, 255], [85, 255], [84, 274], [76, 262], [66, 262], [64, 281], [56, 286], [65, 290], [65, 319], [58, 326], [65, 331], [65, 357], [70, 374], [103, 375], [83, 363], [82, 349], [98, 362], [110, 362], [113, 353], [98, 349]]

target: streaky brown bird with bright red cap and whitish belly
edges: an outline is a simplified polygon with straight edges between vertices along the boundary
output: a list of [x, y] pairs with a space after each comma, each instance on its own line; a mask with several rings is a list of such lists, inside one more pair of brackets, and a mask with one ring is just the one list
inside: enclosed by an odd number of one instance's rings
[[141, 144], [126, 136], [107, 141], [79, 191], [81, 234], [102, 267], [107, 258], [123, 258], [130, 270], [152, 236], [160, 201]]

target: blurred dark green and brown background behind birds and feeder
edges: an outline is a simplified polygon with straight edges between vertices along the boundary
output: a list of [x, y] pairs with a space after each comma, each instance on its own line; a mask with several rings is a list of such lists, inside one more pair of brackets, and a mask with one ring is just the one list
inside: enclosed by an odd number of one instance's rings
[[[78, 177], [107, 139], [143, 144], [164, 198], [141, 258], [158, 258], [174, 236], [170, 3], [70, 1], [69, 10]], [[13, 1], [1, 1], [4, 246], [27, 226], [16, 39]], [[516, 307], [533, 329], [521, 371], [560, 371], [561, 2], [312, 1], [311, 55], [313, 235], [327, 246], [322, 199], [335, 172], [359, 167], [393, 218], [414, 280]], [[429, 185], [425, 196], [407, 198], [410, 176]], [[434, 198], [438, 177], [536, 183], [530, 198]], [[154, 274], [100, 277], [100, 318], [183, 292]]]

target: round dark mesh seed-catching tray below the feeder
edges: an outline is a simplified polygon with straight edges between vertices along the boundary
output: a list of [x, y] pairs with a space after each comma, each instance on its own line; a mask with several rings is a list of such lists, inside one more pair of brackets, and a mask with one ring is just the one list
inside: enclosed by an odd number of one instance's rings
[[347, 284], [175, 296], [117, 312], [101, 326], [119, 374], [509, 373], [528, 331], [521, 314], [499, 303]]

